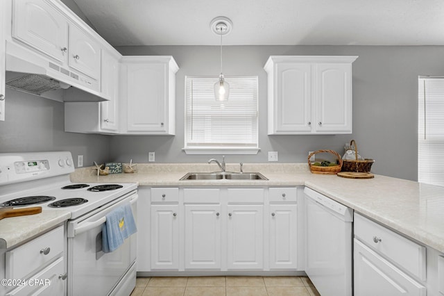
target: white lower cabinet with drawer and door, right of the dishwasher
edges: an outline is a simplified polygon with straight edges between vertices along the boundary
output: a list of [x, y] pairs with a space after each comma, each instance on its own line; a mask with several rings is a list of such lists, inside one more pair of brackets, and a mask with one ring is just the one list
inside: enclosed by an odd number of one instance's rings
[[359, 213], [354, 221], [355, 295], [426, 295], [426, 248]]

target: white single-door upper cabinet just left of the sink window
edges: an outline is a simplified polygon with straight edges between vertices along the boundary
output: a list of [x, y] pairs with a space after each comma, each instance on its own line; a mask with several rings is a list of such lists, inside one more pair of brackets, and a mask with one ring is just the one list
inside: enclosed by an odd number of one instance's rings
[[175, 134], [178, 69], [171, 56], [122, 58], [122, 133]]

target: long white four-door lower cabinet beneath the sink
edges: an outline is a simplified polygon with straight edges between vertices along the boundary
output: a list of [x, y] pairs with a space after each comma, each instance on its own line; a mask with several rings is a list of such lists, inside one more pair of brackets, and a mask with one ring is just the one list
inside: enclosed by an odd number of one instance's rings
[[296, 271], [297, 208], [296, 187], [141, 186], [137, 272]]

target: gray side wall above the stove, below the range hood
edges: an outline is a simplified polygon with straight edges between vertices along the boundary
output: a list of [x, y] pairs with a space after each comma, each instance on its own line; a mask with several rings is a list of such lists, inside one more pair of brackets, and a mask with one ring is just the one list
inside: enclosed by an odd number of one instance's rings
[[0, 153], [71, 151], [76, 166], [78, 154], [84, 156], [85, 166], [109, 160], [108, 136], [65, 133], [64, 129], [63, 103], [6, 88], [6, 120], [0, 121]]

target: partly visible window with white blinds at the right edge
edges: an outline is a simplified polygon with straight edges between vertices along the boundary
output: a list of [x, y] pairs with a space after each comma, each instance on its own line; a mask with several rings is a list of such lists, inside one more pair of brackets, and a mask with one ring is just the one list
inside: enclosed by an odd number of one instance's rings
[[444, 77], [418, 81], [418, 181], [444, 186]]

